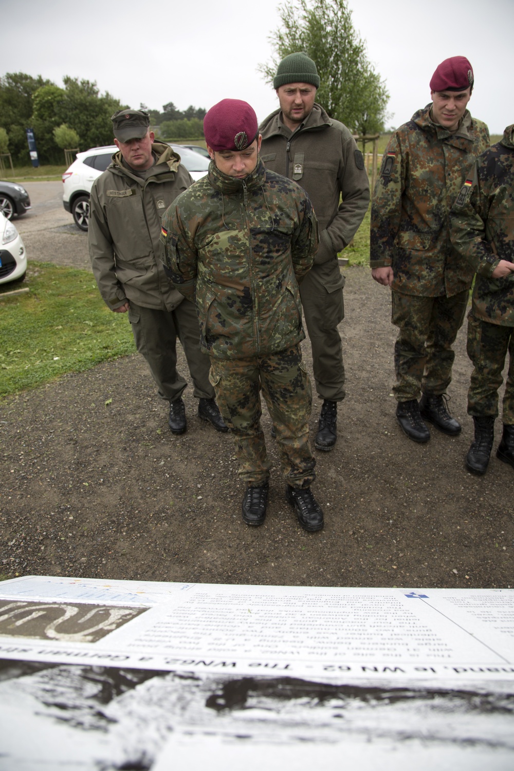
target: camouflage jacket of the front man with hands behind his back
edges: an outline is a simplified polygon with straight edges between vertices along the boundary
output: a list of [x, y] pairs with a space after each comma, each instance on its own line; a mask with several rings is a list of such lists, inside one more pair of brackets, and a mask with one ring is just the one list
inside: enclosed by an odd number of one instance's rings
[[163, 263], [195, 301], [200, 345], [215, 358], [269, 355], [304, 339], [298, 281], [318, 246], [311, 200], [257, 163], [244, 180], [213, 162], [163, 217]]

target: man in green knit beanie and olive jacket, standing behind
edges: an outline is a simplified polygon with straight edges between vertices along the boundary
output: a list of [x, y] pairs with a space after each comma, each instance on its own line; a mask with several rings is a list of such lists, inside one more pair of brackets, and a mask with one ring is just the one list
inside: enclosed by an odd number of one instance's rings
[[314, 101], [320, 77], [312, 59], [304, 53], [285, 56], [273, 85], [280, 109], [260, 124], [261, 159], [267, 169], [307, 190], [320, 229], [314, 265], [300, 295], [316, 391], [323, 399], [314, 446], [328, 452], [337, 440], [338, 402], [346, 393], [338, 330], [344, 318], [344, 274], [338, 252], [348, 246], [368, 211], [368, 173], [351, 131]]

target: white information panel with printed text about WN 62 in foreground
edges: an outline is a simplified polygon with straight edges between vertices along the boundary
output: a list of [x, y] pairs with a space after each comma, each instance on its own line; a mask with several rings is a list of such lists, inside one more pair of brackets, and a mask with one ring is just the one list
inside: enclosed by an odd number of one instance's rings
[[514, 590], [0, 584], [0, 771], [514, 768]]

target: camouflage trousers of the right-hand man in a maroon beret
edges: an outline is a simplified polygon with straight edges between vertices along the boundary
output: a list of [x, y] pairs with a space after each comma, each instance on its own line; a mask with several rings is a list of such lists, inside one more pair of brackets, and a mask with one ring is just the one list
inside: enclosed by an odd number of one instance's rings
[[418, 297], [391, 292], [391, 322], [399, 328], [395, 342], [398, 402], [445, 393], [452, 380], [452, 345], [462, 327], [469, 292], [453, 297]]

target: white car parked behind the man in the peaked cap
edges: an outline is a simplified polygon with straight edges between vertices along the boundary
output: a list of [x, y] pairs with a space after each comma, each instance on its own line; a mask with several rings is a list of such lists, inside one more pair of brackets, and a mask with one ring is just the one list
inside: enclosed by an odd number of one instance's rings
[[[209, 168], [209, 160], [200, 153], [195, 153], [187, 147], [171, 144], [170, 147], [180, 155], [180, 160], [195, 182], [205, 177]], [[62, 174], [64, 192], [62, 205], [73, 215], [75, 224], [86, 231], [89, 219], [89, 193], [92, 183], [106, 170], [113, 153], [117, 153], [116, 145], [92, 147], [83, 153], [77, 153], [76, 160]]]

